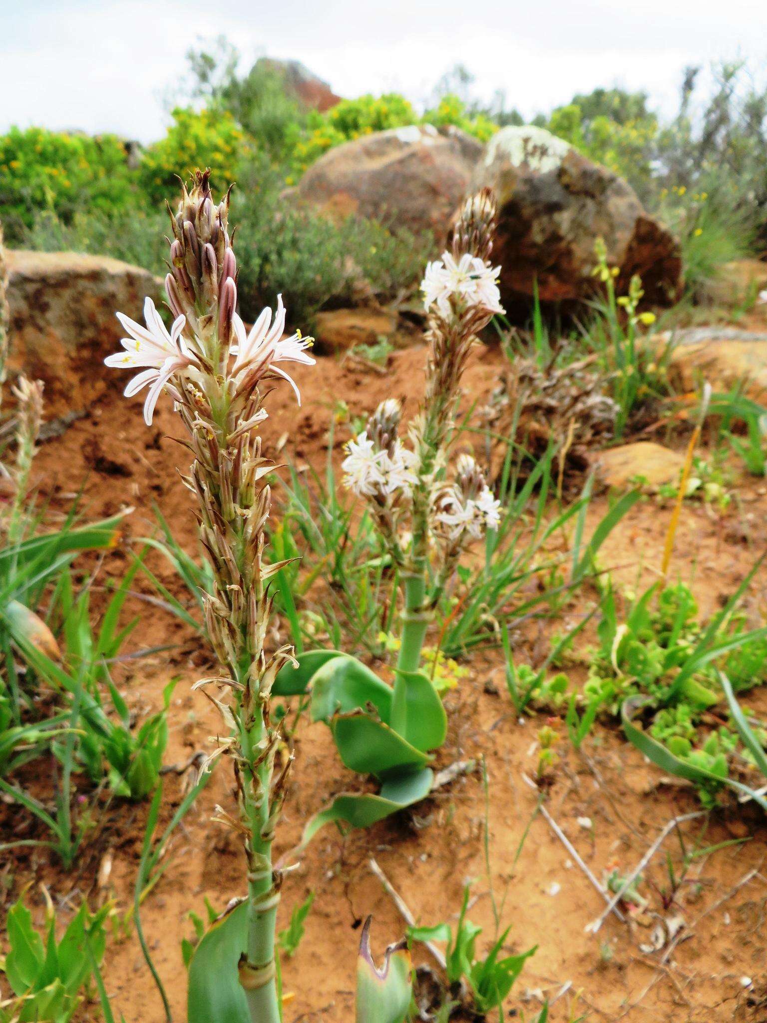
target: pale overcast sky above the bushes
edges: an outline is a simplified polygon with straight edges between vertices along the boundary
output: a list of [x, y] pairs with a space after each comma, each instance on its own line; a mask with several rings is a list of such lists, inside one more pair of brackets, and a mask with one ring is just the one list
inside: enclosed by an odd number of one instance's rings
[[0, 0], [0, 131], [156, 138], [185, 52], [221, 33], [243, 64], [298, 58], [349, 96], [417, 102], [460, 62], [526, 116], [616, 84], [670, 112], [687, 64], [767, 69], [764, 0]]

